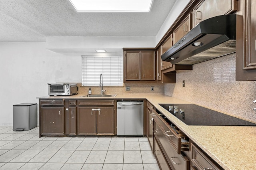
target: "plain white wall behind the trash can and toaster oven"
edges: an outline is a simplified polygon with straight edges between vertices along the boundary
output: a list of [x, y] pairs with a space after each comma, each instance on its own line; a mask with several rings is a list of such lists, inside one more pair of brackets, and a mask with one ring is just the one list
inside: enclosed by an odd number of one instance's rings
[[45, 42], [0, 43], [0, 125], [12, 125], [12, 105], [47, 95], [47, 83], [81, 82], [80, 56], [55, 53]]

